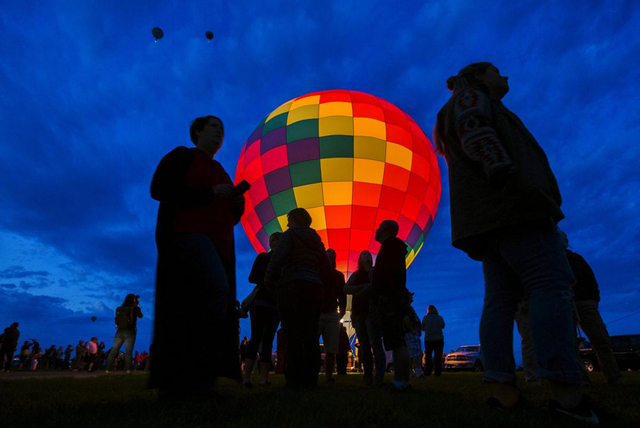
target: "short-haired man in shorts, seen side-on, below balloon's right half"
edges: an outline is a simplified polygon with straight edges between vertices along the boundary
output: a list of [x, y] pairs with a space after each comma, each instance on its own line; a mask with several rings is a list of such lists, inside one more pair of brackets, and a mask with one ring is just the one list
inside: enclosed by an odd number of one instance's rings
[[407, 245], [399, 238], [398, 223], [385, 220], [376, 230], [380, 244], [371, 280], [372, 298], [380, 310], [384, 347], [393, 351], [393, 386], [411, 388], [411, 362], [405, 341], [405, 317], [410, 314], [405, 256]]

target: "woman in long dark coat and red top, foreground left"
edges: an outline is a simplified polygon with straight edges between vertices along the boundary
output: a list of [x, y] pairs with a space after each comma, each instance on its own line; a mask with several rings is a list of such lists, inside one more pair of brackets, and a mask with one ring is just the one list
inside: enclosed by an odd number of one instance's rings
[[[150, 387], [160, 389], [161, 399], [212, 395], [219, 375], [241, 379], [233, 228], [244, 197], [214, 159], [222, 121], [199, 117], [190, 136], [195, 148], [172, 150], [151, 182], [160, 207]], [[176, 370], [176, 352], [211, 364]]]

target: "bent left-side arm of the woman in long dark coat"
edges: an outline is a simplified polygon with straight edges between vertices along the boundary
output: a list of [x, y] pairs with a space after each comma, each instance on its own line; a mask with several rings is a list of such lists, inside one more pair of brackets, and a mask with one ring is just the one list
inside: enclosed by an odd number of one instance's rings
[[186, 147], [178, 147], [162, 158], [151, 181], [151, 197], [160, 202], [194, 207], [213, 202], [211, 187], [186, 187], [185, 175], [193, 160]]

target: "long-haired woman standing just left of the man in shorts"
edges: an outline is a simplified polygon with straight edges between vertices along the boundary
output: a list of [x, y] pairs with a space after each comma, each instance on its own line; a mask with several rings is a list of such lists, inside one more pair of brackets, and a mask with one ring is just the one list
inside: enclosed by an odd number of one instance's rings
[[[373, 361], [375, 357], [376, 379], [381, 383], [387, 365], [382, 346], [382, 333], [372, 325], [371, 315], [371, 277], [373, 275], [373, 257], [364, 250], [358, 257], [358, 270], [351, 274], [344, 292], [351, 294], [351, 325], [358, 337], [358, 361], [364, 371], [365, 385], [373, 383]], [[378, 320], [379, 321], [379, 320]], [[374, 345], [375, 343], [375, 345]], [[373, 350], [373, 355], [371, 351]]]

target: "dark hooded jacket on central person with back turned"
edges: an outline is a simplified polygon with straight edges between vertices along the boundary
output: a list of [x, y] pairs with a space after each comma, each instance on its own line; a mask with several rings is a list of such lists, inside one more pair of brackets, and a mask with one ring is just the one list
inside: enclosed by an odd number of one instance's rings
[[320, 236], [310, 227], [289, 228], [272, 251], [264, 283], [276, 290], [292, 281], [323, 285], [330, 281], [331, 263]]

